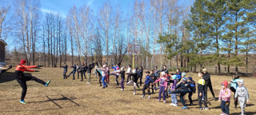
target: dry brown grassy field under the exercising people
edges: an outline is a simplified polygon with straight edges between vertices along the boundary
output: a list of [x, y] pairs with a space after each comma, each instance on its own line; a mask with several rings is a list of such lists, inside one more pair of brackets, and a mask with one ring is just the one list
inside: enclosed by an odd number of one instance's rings
[[[69, 69], [70, 72], [71, 69]], [[166, 98], [167, 103], [158, 102], [158, 92], [151, 95], [151, 99], [142, 98], [142, 89], [137, 95], [133, 95], [133, 86], [125, 86], [124, 91], [120, 91], [121, 86], [115, 83], [115, 77], [110, 77], [110, 85], [102, 89], [98, 84], [98, 77], [92, 77], [91, 84], [86, 84], [87, 80], [62, 79], [62, 69], [42, 68], [39, 73], [31, 75], [42, 79], [51, 80], [48, 87], [38, 84], [35, 81], [28, 81], [26, 93], [26, 105], [19, 103], [22, 88], [14, 79], [14, 69], [3, 73], [0, 81], [0, 114], [220, 114], [220, 102], [213, 101], [210, 97], [208, 105], [210, 110], [199, 111], [197, 94], [193, 95], [194, 105], [189, 109], [182, 110], [182, 104], [178, 97], [178, 107], [170, 104], [170, 97]], [[69, 73], [68, 72], [68, 73]], [[28, 73], [30, 74], [30, 73]], [[187, 73], [194, 81], [198, 81], [195, 73]], [[145, 78], [145, 75], [144, 77]], [[222, 81], [230, 81], [231, 77], [211, 76], [214, 93], [218, 97]], [[256, 114], [254, 89], [255, 77], [244, 77], [245, 85], [250, 93], [250, 104], [246, 105], [246, 114]], [[119, 77], [119, 81], [120, 77]], [[144, 79], [143, 79], [144, 81]], [[234, 93], [232, 93], [232, 97]], [[147, 97], [147, 95], [146, 95]], [[186, 104], [189, 104], [186, 95]], [[239, 114], [240, 109], [234, 109], [234, 100], [230, 102], [230, 114]]]

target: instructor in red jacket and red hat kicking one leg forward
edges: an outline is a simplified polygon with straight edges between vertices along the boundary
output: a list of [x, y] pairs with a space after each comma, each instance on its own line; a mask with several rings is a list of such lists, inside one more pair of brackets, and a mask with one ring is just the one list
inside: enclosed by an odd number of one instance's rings
[[48, 86], [50, 81], [42, 81], [40, 79], [38, 79], [37, 77], [26, 77], [24, 76], [24, 71], [28, 71], [28, 72], [39, 72], [38, 70], [32, 70], [30, 68], [37, 68], [37, 67], [42, 67], [42, 65], [25, 65], [26, 64], [26, 60], [21, 60], [21, 63], [19, 65], [16, 66], [15, 69], [15, 77], [16, 80], [18, 81], [18, 83], [21, 85], [22, 87], [22, 97], [21, 97], [21, 101], [19, 101], [22, 104], [26, 104], [26, 102], [24, 101], [24, 98], [26, 96], [26, 81], [30, 81], [30, 80], [34, 80], [37, 81], [38, 83], [41, 83], [42, 85]]

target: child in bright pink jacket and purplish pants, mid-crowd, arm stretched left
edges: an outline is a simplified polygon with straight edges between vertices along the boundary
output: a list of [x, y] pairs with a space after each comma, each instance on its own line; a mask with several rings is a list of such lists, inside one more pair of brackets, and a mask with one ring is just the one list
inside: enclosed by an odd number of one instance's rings
[[[167, 82], [166, 82], [166, 73], [162, 72], [162, 77], [158, 78], [157, 81], [154, 81], [152, 85], [154, 85], [156, 82], [160, 81], [160, 91], [158, 96], [158, 101], [161, 101], [161, 98], [163, 99], [163, 103], [166, 103], [166, 89], [167, 89]], [[161, 96], [162, 93], [162, 96]]]

